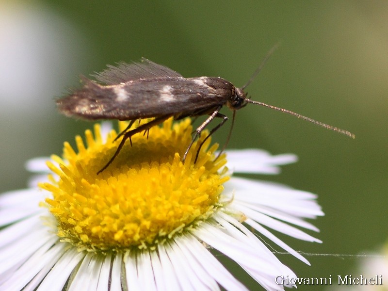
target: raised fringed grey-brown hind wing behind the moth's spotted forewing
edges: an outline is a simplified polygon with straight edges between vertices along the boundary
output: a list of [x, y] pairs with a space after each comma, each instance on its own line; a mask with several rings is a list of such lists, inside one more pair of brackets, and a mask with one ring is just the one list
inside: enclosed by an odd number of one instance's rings
[[102, 72], [94, 75], [97, 81], [107, 85], [158, 77], [182, 77], [178, 72], [164, 65], [151, 62], [146, 58], [142, 58], [140, 62], [133, 62], [131, 64], [121, 62], [117, 65], [107, 65], [107, 67]]

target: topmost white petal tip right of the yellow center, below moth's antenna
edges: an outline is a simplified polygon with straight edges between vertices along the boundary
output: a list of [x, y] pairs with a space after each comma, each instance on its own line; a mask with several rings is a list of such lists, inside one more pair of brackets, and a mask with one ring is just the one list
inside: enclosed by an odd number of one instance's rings
[[298, 158], [293, 154], [271, 155], [259, 149], [227, 150], [227, 167], [232, 172], [278, 174], [279, 165], [296, 162]]

